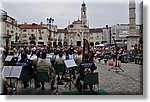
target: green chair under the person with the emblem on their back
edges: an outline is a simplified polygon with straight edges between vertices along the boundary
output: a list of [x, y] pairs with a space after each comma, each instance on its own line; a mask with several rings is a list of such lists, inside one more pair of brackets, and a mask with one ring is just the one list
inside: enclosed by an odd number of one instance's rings
[[86, 74], [84, 80], [81, 80], [80, 83], [82, 85], [82, 92], [83, 92], [83, 85], [98, 85], [99, 90], [98, 72]]

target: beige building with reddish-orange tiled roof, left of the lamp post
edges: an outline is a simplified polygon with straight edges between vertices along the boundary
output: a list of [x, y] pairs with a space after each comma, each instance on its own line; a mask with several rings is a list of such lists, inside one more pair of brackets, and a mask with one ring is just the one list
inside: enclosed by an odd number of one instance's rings
[[49, 31], [47, 27], [38, 24], [21, 24], [21, 43], [38, 46], [48, 44]]

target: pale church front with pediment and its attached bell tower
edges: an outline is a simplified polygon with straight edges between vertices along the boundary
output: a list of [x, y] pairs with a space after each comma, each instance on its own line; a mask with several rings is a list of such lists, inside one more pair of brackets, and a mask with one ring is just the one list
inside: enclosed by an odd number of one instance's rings
[[87, 25], [87, 8], [83, 2], [81, 7], [81, 20], [76, 20], [72, 24], [68, 25], [68, 39], [69, 45], [82, 46], [83, 39], [90, 40], [89, 27]]

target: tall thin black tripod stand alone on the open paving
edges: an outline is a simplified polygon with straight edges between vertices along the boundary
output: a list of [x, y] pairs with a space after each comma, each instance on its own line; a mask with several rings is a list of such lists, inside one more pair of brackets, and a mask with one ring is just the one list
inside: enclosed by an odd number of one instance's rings
[[118, 64], [117, 64], [117, 59], [118, 59], [118, 58], [117, 58], [117, 56], [118, 56], [118, 46], [117, 46], [117, 44], [116, 44], [116, 40], [114, 39], [114, 37], [113, 37], [113, 40], [114, 40], [115, 47], [116, 47], [116, 62], [115, 62], [115, 66], [113, 66], [113, 67], [111, 67], [110, 69], [108, 69], [108, 71], [110, 71], [111, 69], [115, 69], [116, 72], [119, 72], [118, 69], [120, 69], [121, 71], [124, 72], [124, 70], [121, 68], [121, 66], [118, 66]]

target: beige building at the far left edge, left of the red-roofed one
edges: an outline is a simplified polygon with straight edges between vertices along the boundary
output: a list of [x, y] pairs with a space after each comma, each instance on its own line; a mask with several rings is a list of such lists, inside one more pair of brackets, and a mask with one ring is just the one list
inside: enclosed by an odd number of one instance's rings
[[12, 46], [14, 43], [19, 42], [20, 28], [18, 27], [17, 21], [7, 15], [7, 12], [0, 10], [0, 46]]

